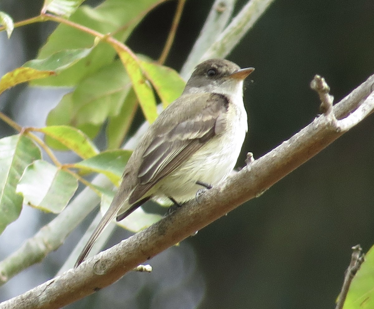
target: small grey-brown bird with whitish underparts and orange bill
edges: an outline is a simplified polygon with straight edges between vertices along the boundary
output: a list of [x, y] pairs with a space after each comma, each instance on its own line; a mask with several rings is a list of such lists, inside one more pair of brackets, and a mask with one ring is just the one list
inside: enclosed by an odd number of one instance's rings
[[196, 66], [181, 96], [141, 138], [119, 189], [74, 267], [85, 260], [114, 218], [122, 220], [149, 199], [182, 205], [202, 187], [209, 189], [228, 177], [248, 131], [243, 80], [252, 71], [227, 59], [209, 59]]

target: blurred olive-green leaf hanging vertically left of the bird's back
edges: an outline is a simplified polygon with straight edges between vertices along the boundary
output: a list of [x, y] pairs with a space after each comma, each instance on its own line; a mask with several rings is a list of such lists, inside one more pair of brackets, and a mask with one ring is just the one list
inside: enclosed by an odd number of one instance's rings
[[134, 89], [129, 91], [121, 111], [117, 116], [110, 117], [106, 128], [107, 148], [118, 149], [128, 133], [132, 120], [138, 109], [138, 100]]

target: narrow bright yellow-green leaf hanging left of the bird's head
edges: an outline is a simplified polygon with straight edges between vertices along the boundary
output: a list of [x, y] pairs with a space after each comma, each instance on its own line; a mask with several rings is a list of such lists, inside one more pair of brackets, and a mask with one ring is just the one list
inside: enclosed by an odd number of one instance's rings
[[151, 86], [142, 74], [140, 61], [134, 54], [119, 46], [115, 46], [115, 49], [130, 76], [144, 117], [152, 123], [157, 118], [156, 99]]

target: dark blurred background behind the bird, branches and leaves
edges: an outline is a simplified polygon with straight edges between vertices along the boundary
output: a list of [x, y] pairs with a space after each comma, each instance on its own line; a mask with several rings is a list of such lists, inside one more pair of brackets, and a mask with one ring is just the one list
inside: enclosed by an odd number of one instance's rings
[[[237, 1], [236, 12], [245, 2]], [[0, 10], [19, 21], [37, 15], [42, 3], [1, 0]], [[180, 70], [212, 3], [187, 1], [166, 65]], [[157, 59], [175, 6], [168, 1], [146, 16], [129, 47]], [[10, 41], [0, 33], [1, 75], [35, 58], [54, 27], [17, 28]], [[227, 57], [256, 68], [245, 85], [249, 134], [237, 166], [246, 152], [258, 158], [316, 117], [314, 74], [325, 77], [335, 102], [373, 74], [373, 34], [372, 0], [276, 0]], [[19, 85], [2, 95], [0, 109], [21, 125], [43, 126], [63, 93]], [[9, 134], [0, 123], [0, 137]], [[151, 260], [152, 274], [130, 273], [68, 308], [333, 308], [350, 248], [360, 243], [367, 251], [374, 242], [373, 150], [370, 116], [259, 198]], [[27, 215], [0, 237], [0, 258], [52, 217], [27, 207], [22, 212]], [[83, 230], [1, 287], [1, 300], [53, 276]], [[119, 230], [111, 243], [125, 236]]]

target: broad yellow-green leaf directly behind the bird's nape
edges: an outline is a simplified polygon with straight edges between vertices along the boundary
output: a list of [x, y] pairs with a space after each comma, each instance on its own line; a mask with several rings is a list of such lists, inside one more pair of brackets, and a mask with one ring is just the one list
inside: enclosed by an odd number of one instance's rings
[[145, 61], [141, 62], [141, 68], [159, 95], [164, 108], [183, 92], [186, 82], [172, 68]]

